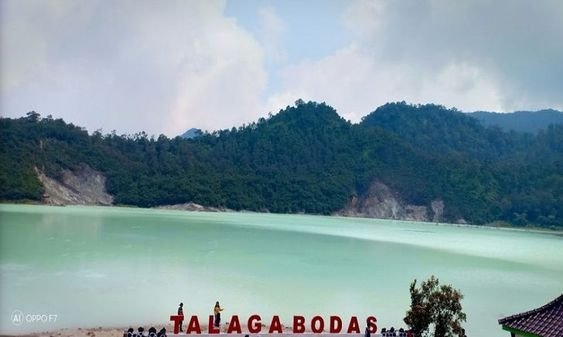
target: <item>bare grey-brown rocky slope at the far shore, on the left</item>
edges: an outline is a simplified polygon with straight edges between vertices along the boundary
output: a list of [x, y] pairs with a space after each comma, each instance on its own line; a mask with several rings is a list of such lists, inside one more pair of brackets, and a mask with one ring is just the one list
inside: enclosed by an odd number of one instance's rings
[[64, 170], [61, 179], [47, 177], [35, 169], [45, 188], [43, 201], [51, 205], [111, 205], [113, 197], [106, 191], [104, 175], [88, 165]]

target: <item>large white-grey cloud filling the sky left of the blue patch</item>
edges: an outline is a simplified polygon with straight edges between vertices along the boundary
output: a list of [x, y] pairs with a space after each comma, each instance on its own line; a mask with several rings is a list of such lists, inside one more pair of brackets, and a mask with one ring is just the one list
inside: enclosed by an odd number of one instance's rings
[[2, 113], [179, 134], [263, 114], [262, 47], [223, 1], [3, 1]]

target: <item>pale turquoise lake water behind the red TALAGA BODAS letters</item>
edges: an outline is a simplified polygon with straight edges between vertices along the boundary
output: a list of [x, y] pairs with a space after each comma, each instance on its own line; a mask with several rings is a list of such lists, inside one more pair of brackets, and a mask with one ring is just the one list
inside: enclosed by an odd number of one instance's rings
[[[465, 295], [471, 337], [563, 292], [563, 237], [404, 221], [0, 205], [0, 333], [209, 315], [360, 318], [404, 327], [409, 283]], [[24, 314], [56, 315], [16, 326]], [[267, 323], [267, 322], [265, 322]]]

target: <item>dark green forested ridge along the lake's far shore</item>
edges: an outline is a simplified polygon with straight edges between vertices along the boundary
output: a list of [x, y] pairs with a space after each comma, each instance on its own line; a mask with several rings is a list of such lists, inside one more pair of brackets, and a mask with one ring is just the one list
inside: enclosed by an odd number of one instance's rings
[[2, 200], [41, 200], [37, 171], [58, 179], [86, 164], [122, 205], [333, 214], [377, 182], [405, 203], [443, 201], [444, 221], [563, 228], [562, 125], [504, 132], [405, 103], [351, 124], [324, 103], [299, 102], [192, 139], [88, 135], [34, 112], [2, 118], [0, 129]]

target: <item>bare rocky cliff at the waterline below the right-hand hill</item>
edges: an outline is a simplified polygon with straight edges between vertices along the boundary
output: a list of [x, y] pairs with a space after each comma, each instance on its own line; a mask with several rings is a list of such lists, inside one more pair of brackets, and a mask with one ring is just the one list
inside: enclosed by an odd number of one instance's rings
[[443, 219], [444, 202], [435, 200], [430, 205], [409, 205], [399, 195], [381, 182], [373, 182], [365, 195], [352, 197], [346, 207], [338, 212], [343, 216], [434, 221]]

